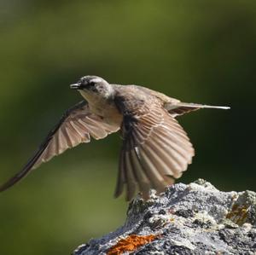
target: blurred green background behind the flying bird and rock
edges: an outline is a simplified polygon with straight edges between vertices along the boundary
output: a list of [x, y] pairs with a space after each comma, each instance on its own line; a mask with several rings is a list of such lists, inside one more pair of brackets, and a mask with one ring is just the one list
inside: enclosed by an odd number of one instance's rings
[[[179, 118], [196, 156], [178, 181], [255, 190], [255, 45], [255, 1], [1, 0], [1, 183], [81, 100], [68, 85], [95, 74], [230, 106]], [[120, 144], [83, 144], [0, 194], [0, 254], [69, 254], [124, 223]]]

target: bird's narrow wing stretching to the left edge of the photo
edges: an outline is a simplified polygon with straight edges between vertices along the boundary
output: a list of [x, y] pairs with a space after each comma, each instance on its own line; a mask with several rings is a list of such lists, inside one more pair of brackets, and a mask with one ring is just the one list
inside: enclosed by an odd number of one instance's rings
[[67, 148], [73, 148], [82, 142], [90, 142], [90, 136], [95, 139], [102, 139], [117, 130], [119, 128], [108, 125], [104, 122], [104, 119], [90, 113], [86, 101], [80, 101], [67, 110], [60, 122], [46, 136], [32, 159], [27, 162], [20, 172], [0, 186], [0, 191], [13, 186], [22, 177], [25, 177], [29, 171], [49, 161], [54, 156], [62, 154]]

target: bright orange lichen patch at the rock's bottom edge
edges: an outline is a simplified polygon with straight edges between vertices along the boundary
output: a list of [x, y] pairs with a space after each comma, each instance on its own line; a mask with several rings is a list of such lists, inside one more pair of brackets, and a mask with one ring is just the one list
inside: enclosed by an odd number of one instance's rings
[[124, 252], [133, 252], [139, 246], [143, 246], [148, 242], [154, 241], [157, 235], [129, 235], [125, 239], [121, 239], [112, 246], [107, 255], [121, 255]]

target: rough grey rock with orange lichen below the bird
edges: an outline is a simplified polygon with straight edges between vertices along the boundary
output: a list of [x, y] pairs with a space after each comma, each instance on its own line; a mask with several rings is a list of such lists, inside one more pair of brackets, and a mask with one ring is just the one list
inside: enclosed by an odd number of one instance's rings
[[139, 196], [124, 226], [73, 255], [256, 254], [256, 194], [221, 192], [198, 180], [177, 183], [148, 201]]

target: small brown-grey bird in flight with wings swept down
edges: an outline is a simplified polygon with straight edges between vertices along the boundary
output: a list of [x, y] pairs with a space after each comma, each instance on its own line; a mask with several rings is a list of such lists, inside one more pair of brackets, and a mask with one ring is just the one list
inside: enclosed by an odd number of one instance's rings
[[125, 190], [125, 200], [137, 191], [148, 200], [172, 185], [192, 163], [195, 149], [176, 117], [201, 108], [230, 107], [187, 103], [135, 84], [109, 84], [94, 75], [71, 84], [83, 101], [69, 108], [20, 172], [0, 186], [0, 192], [54, 156], [93, 137], [119, 131], [122, 148], [114, 197]]

